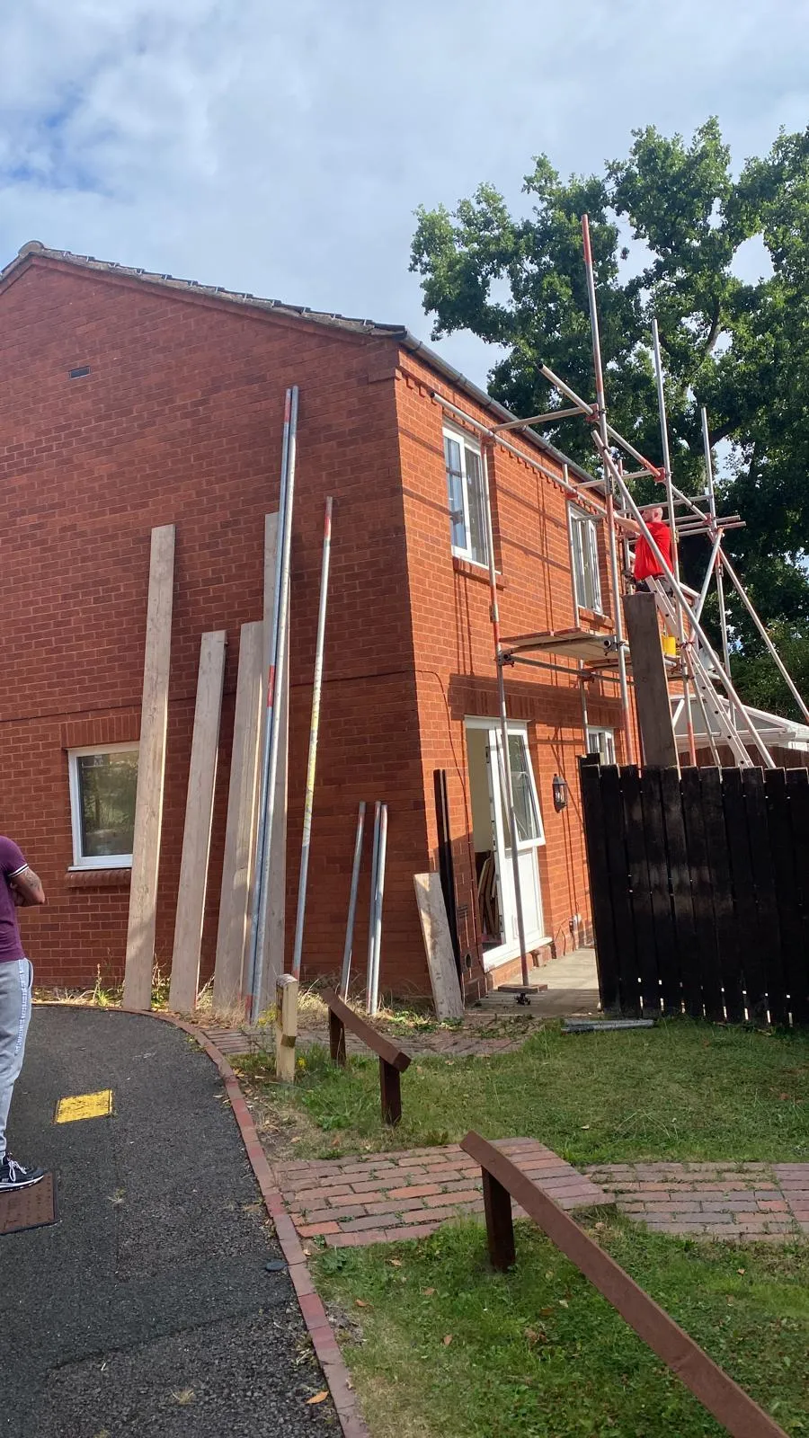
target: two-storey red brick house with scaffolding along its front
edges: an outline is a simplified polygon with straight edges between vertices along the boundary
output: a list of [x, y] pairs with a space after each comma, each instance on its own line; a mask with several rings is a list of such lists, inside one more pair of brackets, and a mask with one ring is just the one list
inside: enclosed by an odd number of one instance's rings
[[[105, 978], [122, 971], [131, 833], [121, 814], [137, 764], [150, 531], [168, 522], [177, 526], [177, 555], [157, 958], [168, 968], [200, 636], [226, 628], [203, 945], [203, 974], [210, 972], [239, 626], [261, 617], [263, 515], [278, 505], [284, 397], [292, 384], [301, 410], [288, 928], [322, 502], [331, 493], [304, 971], [338, 968], [357, 804], [381, 798], [389, 804], [381, 986], [429, 989], [412, 876], [436, 867], [433, 771], [442, 768], [469, 982], [472, 991], [481, 984], [482, 966], [489, 982], [510, 976], [517, 940], [500, 781], [488, 762], [497, 703], [481, 525], [481, 436], [507, 411], [402, 326], [312, 313], [37, 243], [1, 272], [0, 318], [0, 828], [23, 846], [48, 892], [48, 907], [24, 916], [39, 981], [86, 986], [99, 969]], [[502, 633], [576, 624], [609, 633], [613, 600], [597, 515], [571, 503], [559, 483], [563, 456], [540, 436], [507, 439], [511, 447], [495, 443], [489, 456]], [[528, 942], [548, 953], [571, 948], [576, 917], [589, 917], [576, 759], [587, 746], [613, 752], [619, 705], [613, 682], [593, 680], [583, 706], [574, 661], [541, 657], [551, 667], [508, 670], [507, 690]], [[112, 841], [102, 846], [112, 857], [94, 851], [79, 802], [96, 769], [107, 775], [107, 795], [109, 784], [124, 795]], [[569, 787], [559, 812], [557, 775]], [[369, 869], [366, 854], [357, 972]], [[500, 905], [478, 903], [481, 874]]]

